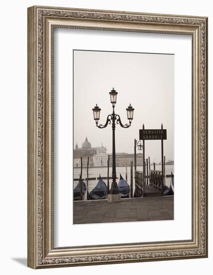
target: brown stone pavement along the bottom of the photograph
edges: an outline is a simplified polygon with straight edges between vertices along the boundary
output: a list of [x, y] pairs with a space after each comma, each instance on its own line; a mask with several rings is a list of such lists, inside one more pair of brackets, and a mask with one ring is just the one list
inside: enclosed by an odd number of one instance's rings
[[174, 196], [74, 201], [73, 223], [174, 219]]

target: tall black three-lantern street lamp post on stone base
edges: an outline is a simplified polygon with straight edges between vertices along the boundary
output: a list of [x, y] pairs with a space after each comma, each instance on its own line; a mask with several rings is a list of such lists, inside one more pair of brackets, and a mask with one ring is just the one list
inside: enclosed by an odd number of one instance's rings
[[109, 92], [109, 94], [110, 94], [110, 101], [112, 103], [112, 113], [108, 114], [106, 123], [104, 125], [98, 124], [98, 120], [100, 119], [101, 108], [99, 108], [98, 105], [96, 104], [96, 106], [92, 110], [93, 110], [94, 120], [98, 128], [105, 128], [108, 124], [112, 123], [112, 185], [110, 189], [110, 195], [119, 195], [118, 185], [116, 182], [115, 126], [116, 124], [120, 124], [120, 126], [123, 128], [129, 128], [132, 123], [134, 108], [131, 106], [131, 104], [126, 108], [129, 124], [128, 123], [122, 124], [120, 115], [115, 113], [115, 103], [117, 100], [118, 92], [113, 88]]

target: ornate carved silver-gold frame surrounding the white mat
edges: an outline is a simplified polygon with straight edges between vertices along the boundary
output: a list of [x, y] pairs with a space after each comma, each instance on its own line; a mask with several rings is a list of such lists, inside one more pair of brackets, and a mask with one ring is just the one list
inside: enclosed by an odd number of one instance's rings
[[[54, 27], [192, 35], [192, 239], [53, 246]], [[208, 256], [208, 18], [124, 11], [28, 8], [28, 266], [107, 264]]]

